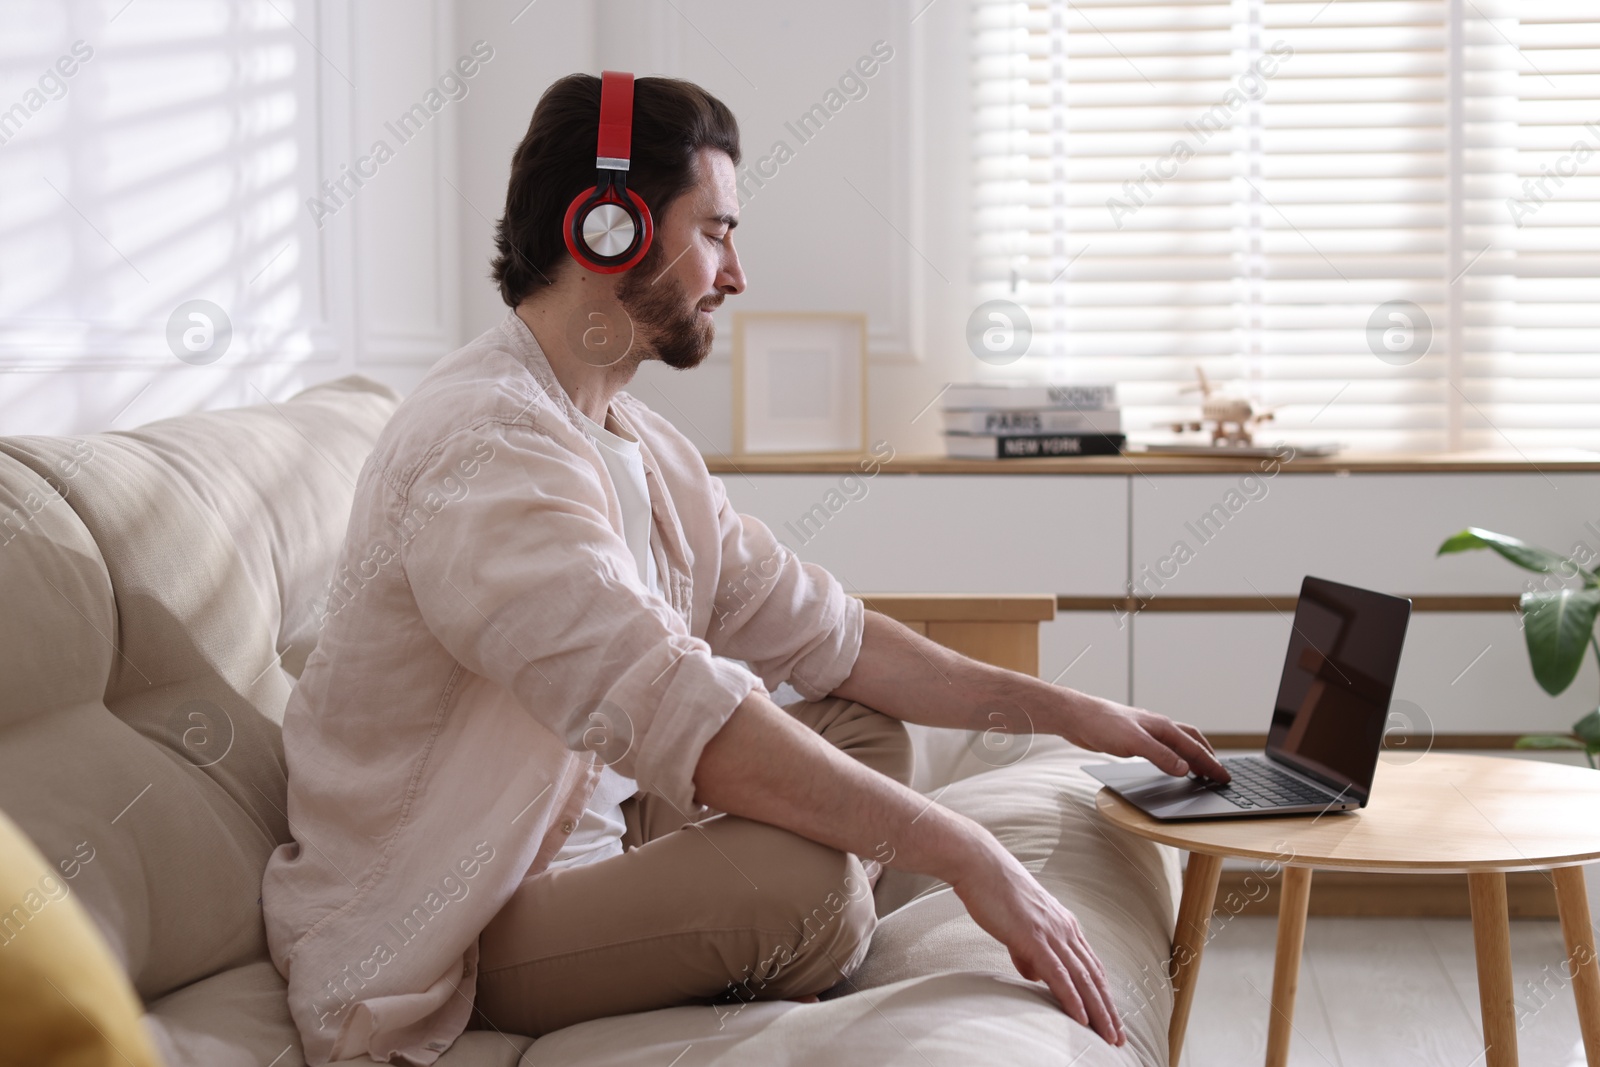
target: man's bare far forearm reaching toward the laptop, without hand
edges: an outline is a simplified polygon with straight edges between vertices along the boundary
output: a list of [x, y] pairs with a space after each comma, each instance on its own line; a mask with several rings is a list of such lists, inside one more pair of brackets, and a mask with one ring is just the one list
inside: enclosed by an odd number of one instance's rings
[[962, 656], [869, 609], [856, 665], [834, 696], [925, 726], [990, 729], [1003, 721], [1019, 729], [1019, 705], [1040, 686], [1048, 683]]

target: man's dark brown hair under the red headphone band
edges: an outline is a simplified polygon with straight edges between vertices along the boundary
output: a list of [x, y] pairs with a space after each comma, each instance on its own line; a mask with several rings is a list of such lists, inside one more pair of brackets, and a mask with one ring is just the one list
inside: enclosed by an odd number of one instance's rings
[[[517, 307], [550, 285], [557, 264], [570, 256], [562, 219], [573, 197], [595, 184], [595, 139], [600, 133], [600, 78], [570, 74], [539, 98], [528, 133], [510, 162], [506, 216], [494, 229], [491, 277], [501, 299]], [[738, 165], [739, 123], [715, 96], [678, 78], [634, 82], [634, 155], [627, 187], [637, 192], [656, 224], [696, 181], [694, 154], [722, 149]]]

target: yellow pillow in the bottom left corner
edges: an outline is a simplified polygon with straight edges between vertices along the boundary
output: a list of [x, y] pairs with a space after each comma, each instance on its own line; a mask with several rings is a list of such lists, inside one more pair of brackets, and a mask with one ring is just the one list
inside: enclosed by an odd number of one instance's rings
[[66, 870], [0, 813], [0, 1064], [162, 1067], [139, 997]]

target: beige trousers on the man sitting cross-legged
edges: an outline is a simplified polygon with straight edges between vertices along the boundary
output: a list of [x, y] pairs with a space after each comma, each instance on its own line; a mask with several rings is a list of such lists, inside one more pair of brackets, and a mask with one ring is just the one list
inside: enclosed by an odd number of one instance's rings
[[[899, 720], [843, 697], [784, 710], [910, 782]], [[686, 822], [653, 793], [622, 814], [621, 856], [526, 878], [483, 929], [469, 1029], [539, 1037], [707, 1003], [728, 1017], [750, 1000], [819, 993], [866, 958], [877, 917], [856, 856], [731, 814]]]

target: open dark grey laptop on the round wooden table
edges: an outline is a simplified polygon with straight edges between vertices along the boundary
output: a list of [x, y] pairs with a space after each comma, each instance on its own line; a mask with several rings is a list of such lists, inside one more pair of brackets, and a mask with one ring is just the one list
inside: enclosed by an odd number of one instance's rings
[[1410, 621], [1405, 597], [1306, 577], [1267, 750], [1222, 760], [1232, 782], [1174, 777], [1149, 760], [1083, 769], [1157, 819], [1365, 808]]

